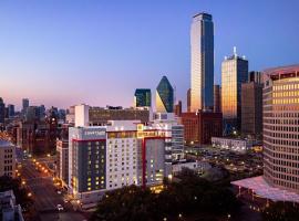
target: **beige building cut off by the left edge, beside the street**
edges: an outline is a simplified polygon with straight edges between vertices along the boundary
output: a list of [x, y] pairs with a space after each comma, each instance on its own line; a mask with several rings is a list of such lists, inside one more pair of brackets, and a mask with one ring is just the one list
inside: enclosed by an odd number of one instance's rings
[[16, 146], [0, 139], [0, 176], [16, 177]]

